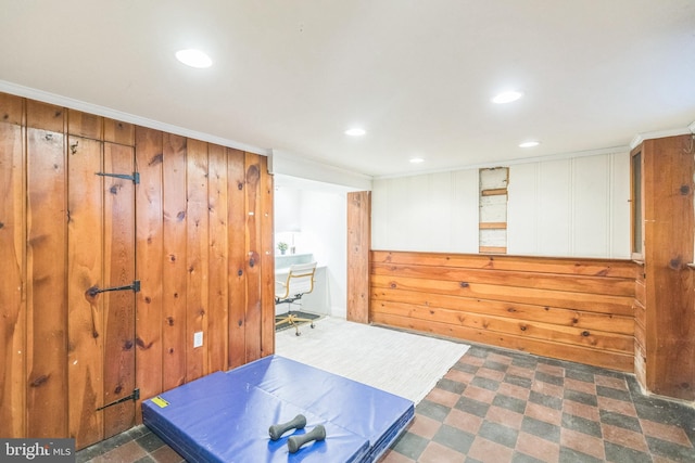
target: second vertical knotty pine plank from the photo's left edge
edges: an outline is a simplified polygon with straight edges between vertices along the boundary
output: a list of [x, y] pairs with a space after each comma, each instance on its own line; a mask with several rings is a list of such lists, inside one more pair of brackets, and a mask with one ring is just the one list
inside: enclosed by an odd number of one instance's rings
[[67, 185], [62, 108], [27, 102], [27, 435], [65, 436]]

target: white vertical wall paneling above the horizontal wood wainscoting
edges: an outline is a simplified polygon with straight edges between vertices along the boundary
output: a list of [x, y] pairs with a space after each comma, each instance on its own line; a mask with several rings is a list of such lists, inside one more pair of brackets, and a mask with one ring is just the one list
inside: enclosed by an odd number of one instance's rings
[[[509, 166], [507, 254], [630, 257], [629, 153]], [[372, 248], [477, 253], [478, 169], [375, 179]]]

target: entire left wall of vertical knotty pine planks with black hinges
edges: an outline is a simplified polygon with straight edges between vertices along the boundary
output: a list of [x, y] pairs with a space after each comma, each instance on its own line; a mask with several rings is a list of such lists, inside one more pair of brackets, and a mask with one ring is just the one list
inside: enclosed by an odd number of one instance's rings
[[0, 150], [0, 435], [83, 448], [274, 352], [266, 157], [3, 93]]

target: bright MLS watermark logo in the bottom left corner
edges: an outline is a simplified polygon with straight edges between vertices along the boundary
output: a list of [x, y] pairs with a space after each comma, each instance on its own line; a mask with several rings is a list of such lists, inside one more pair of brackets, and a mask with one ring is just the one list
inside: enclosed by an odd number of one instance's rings
[[0, 439], [0, 462], [75, 463], [75, 439]]

